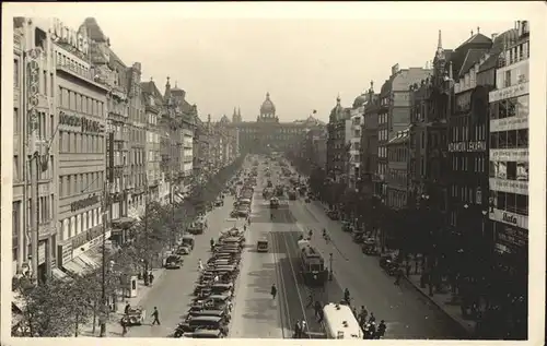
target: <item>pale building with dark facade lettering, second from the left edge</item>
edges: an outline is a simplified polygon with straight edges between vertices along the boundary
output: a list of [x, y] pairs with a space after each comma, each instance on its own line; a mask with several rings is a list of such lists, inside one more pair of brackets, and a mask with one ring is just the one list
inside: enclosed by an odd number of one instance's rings
[[[62, 25], [57, 24], [55, 29]], [[79, 34], [86, 37], [86, 31]], [[106, 193], [107, 94], [109, 87], [95, 76], [88, 49], [74, 50], [71, 40], [55, 35], [56, 93], [59, 114], [58, 261], [65, 270], [80, 273], [86, 263], [101, 263], [98, 244], [108, 211]], [[59, 38], [60, 37], [60, 38]], [[70, 37], [70, 35], [69, 35]], [[88, 45], [89, 48], [89, 45]], [[107, 229], [106, 238], [110, 230]]]

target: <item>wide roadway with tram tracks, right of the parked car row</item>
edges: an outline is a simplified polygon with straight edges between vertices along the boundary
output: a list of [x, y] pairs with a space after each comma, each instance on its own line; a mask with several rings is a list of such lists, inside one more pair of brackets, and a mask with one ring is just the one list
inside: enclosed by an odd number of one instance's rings
[[[263, 170], [261, 166], [260, 170]], [[274, 168], [272, 171], [276, 169]], [[272, 174], [274, 184], [289, 181]], [[352, 305], [365, 306], [376, 320], [385, 320], [386, 338], [450, 339], [464, 335], [461, 327], [440, 309], [418, 294], [410, 284], [394, 285], [394, 278], [379, 266], [376, 256], [364, 255], [351, 235], [330, 220], [318, 202], [305, 203], [283, 199], [278, 210], [270, 211], [261, 196], [266, 178], [259, 174], [255, 190], [252, 227], [236, 290], [235, 310], [230, 337], [290, 338], [298, 320], [305, 320], [313, 337], [321, 337], [313, 308], [306, 307], [309, 296], [323, 303], [339, 301], [342, 290], [351, 293]], [[270, 212], [274, 214], [270, 219]], [[322, 237], [326, 228], [330, 241]], [[313, 229], [312, 243], [325, 259], [327, 266], [333, 253], [334, 279], [324, 288], [310, 291], [300, 276], [296, 242], [299, 236]], [[256, 241], [267, 238], [268, 253], [256, 252]], [[278, 297], [270, 296], [271, 284], [278, 287]]]

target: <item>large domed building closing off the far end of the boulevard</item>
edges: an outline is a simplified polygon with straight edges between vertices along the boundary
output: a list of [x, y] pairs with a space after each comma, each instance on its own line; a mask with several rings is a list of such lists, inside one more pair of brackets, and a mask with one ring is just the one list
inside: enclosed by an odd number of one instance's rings
[[305, 129], [321, 126], [322, 122], [311, 117], [304, 121], [279, 122], [276, 106], [266, 94], [260, 106], [260, 115], [255, 121], [243, 121], [241, 112], [232, 117], [230, 127], [236, 128], [238, 148], [244, 153], [287, 152], [293, 151]]

